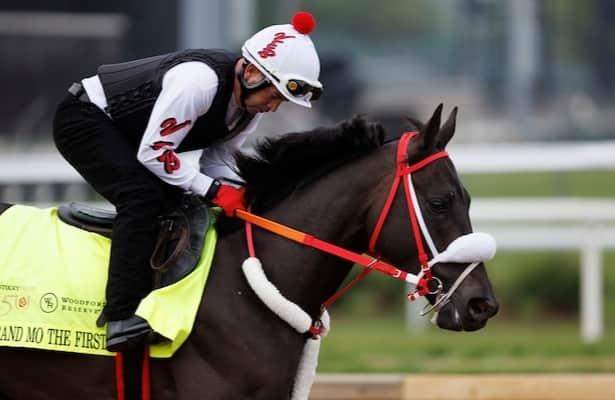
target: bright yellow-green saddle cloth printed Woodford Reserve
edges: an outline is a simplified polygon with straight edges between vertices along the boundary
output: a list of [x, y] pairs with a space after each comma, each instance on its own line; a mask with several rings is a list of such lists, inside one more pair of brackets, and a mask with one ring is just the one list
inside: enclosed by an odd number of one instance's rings
[[[171, 339], [152, 346], [168, 358], [196, 318], [217, 234], [211, 212], [203, 254], [180, 281], [154, 290], [137, 315]], [[15, 205], [0, 215], [0, 346], [113, 355], [96, 326], [105, 302], [110, 240], [67, 225], [56, 208]]]

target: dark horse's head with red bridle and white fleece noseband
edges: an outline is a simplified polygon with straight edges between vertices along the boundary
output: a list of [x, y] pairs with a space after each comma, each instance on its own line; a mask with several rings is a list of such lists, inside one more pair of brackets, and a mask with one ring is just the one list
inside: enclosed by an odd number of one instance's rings
[[[421, 265], [424, 270], [428, 264], [432, 266], [434, 279], [427, 299], [436, 310], [437, 325], [472, 331], [485, 326], [498, 310], [483, 264], [493, 256], [495, 243], [486, 234], [469, 235], [470, 195], [444, 152], [455, 132], [457, 109], [442, 127], [441, 113], [442, 105], [427, 123], [410, 121], [418, 134], [409, 142], [400, 142], [396, 176], [401, 176], [394, 178], [399, 186], [389, 189], [390, 181], [383, 182], [378, 188], [380, 198], [370, 210], [371, 226], [378, 226], [381, 220], [370, 250], [399, 268], [407, 266], [407, 272], [418, 273]], [[383, 217], [382, 205], [386, 208], [387, 203], [390, 209]], [[421, 262], [422, 253], [426, 257]]]

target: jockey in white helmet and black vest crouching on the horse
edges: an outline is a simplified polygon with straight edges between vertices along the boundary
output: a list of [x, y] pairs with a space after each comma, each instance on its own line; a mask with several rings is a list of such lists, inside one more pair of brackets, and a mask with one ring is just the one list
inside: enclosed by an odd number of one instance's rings
[[[158, 217], [192, 192], [232, 217], [245, 207], [233, 153], [283, 101], [311, 107], [322, 93], [311, 14], [267, 27], [242, 56], [184, 50], [120, 64], [74, 83], [58, 106], [60, 153], [117, 210], [103, 319], [107, 350], [160, 340], [134, 315], [151, 288]], [[203, 149], [198, 168], [181, 153]], [[229, 180], [230, 179], [230, 180]]]

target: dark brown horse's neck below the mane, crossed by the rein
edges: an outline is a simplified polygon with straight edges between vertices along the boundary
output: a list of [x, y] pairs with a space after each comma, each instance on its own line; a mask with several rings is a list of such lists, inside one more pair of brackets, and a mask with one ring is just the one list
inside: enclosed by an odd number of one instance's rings
[[[337, 246], [365, 251], [370, 233], [366, 214], [371, 192], [382, 177], [381, 165], [363, 159], [344, 166], [294, 192], [265, 216]], [[273, 239], [271, 234], [255, 233], [255, 245], [265, 272], [281, 292], [315, 312], [352, 267], [322, 251]]]

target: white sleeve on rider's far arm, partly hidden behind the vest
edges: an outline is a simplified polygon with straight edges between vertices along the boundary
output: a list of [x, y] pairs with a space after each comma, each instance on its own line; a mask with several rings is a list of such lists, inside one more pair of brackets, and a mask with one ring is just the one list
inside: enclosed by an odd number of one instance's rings
[[262, 116], [263, 114], [256, 114], [245, 129], [233, 138], [224, 142], [216, 142], [204, 149], [199, 160], [201, 171], [214, 178], [241, 181], [241, 178], [235, 172], [236, 166], [233, 155], [241, 148], [248, 136], [256, 130]]

